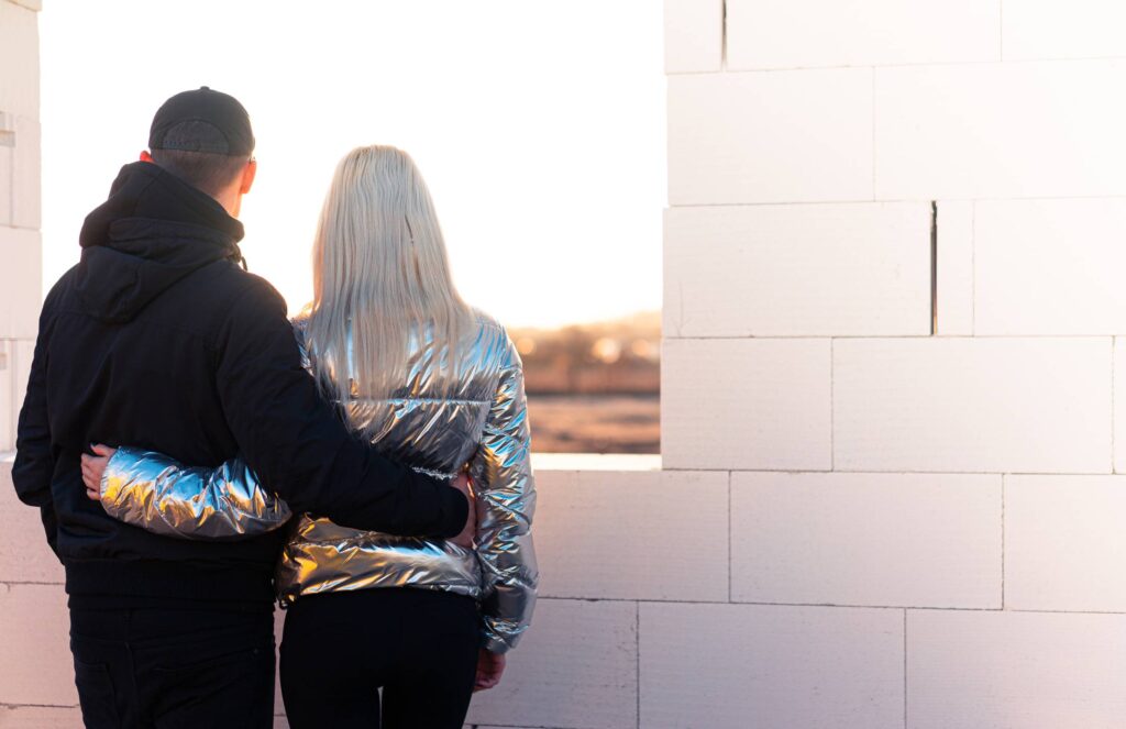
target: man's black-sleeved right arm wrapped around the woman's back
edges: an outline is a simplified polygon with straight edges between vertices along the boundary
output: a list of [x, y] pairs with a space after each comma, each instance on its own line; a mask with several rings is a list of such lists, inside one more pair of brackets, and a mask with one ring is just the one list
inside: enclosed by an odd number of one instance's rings
[[216, 341], [216, 383], [248, 465], [294, 512], [388, 534], [448, 537], [468, 501], [352, 436], [301, 365], [285, 303], [249, 282]]

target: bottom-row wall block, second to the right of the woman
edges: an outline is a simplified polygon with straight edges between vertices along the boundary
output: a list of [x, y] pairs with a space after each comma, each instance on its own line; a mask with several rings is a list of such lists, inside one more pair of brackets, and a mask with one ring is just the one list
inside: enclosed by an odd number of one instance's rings
[[903, 611], [641, 605], [647, 729], [903, 726]]

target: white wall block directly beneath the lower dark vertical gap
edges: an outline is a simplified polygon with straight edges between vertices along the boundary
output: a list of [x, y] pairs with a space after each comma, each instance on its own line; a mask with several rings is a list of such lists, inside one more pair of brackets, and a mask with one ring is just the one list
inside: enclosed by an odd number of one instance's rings
[[1109, 473], [1109, 338], [838, 340], [846, 471]]

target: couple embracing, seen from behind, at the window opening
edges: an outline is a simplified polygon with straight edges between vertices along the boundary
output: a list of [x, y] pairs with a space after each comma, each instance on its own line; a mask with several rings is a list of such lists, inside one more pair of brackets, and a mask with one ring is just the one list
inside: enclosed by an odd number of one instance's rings
[[512, 343], [454, 290], [403, 152], [340, 162], [289, 322], [238, 247], [242, 105], [179, 94], [149, 146], [44, 303], [12, 471], [86, 726], [271, 727], [276, 594], [294, 729], [459, 728], [535, 604]]

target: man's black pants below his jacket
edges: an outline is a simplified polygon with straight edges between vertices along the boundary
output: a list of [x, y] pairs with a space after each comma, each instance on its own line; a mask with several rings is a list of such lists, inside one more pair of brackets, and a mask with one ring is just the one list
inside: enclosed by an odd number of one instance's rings
[[269, 607], [71, 607], [74, 683], [87, 729], [270, 729]]

